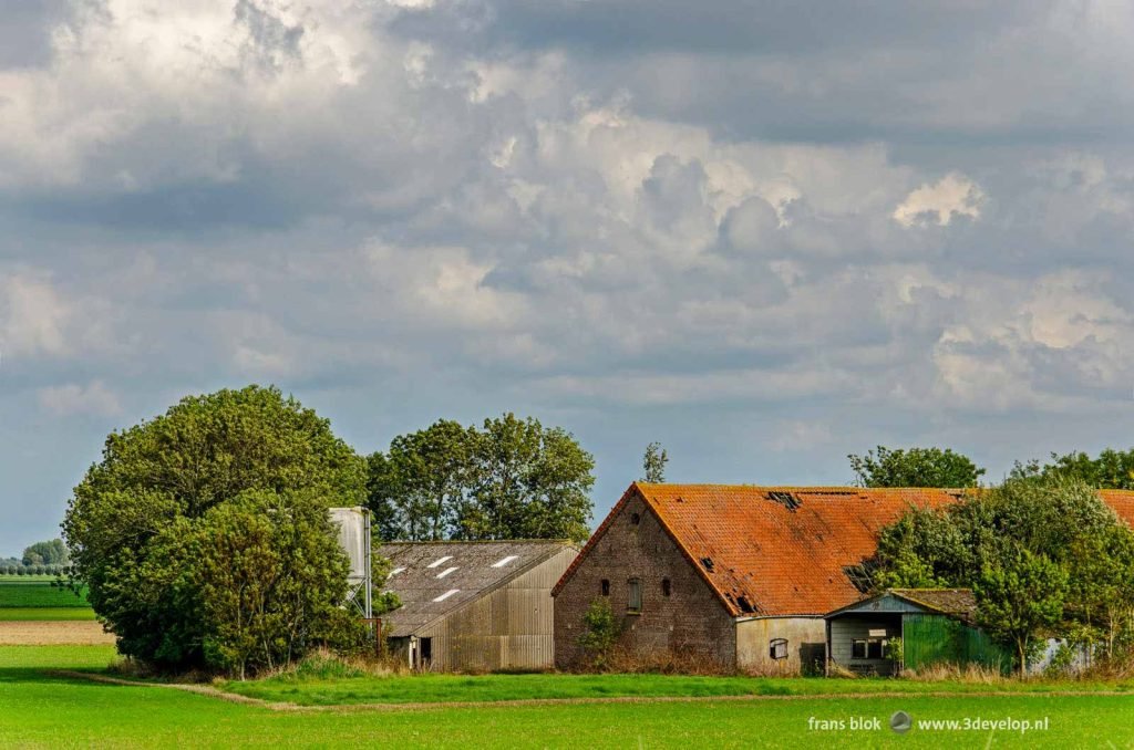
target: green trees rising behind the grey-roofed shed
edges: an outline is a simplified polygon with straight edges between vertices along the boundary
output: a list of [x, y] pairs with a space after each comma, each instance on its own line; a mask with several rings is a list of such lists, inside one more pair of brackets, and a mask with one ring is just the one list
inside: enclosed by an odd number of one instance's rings
[[569, 433], [533, 418], [442, 420], [370, 457], [370, 506], [384, 539], [583, 540], [593, 469]]

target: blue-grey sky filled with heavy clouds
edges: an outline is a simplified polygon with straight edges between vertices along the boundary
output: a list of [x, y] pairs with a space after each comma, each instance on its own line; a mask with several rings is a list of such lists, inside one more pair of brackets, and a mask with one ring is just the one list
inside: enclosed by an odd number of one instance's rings
[[1127, 448], [1134, 7], [0, 3], [0, 556], [105, 435], [274, 383], [674, 481]]

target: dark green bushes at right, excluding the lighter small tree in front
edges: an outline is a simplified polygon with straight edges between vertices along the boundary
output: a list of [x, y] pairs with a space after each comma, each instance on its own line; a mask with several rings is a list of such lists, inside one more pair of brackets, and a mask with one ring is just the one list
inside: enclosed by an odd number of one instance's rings
[[[911, 511], [879, 536], [875, 587], [989, 585], [1016, 551], [1066, 576], [1056, 622], [1044, 628], [1106, 657], [1125, 648], [1124, 633], [1134, 631], [1134, 532], [1093, 488], [1060, 475], [1016, 476], [942, 510]], [[1018, 642], [1009, 645], [1018, 658]]]

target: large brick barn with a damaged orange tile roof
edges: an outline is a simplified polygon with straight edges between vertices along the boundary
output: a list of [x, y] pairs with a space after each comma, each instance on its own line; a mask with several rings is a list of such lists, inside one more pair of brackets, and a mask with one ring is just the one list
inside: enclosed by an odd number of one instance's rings
[[[1134, 521], [1134, 493], [1102, 498]], [[575, 668], [583, 614], [609, 598], [620, 645], [669, 650], [722, 670], [823, 668], [823, 615], [865, 597], [858, 565], [878, 532], [955, 489], [636, 483], [556, 585], [556, 664]]]

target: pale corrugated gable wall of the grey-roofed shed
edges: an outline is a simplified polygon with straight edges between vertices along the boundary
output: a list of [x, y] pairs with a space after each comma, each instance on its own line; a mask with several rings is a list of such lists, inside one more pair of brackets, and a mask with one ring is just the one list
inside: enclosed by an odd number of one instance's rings
[[418, 631], [418, 638], [432, 639], [430, 668], [550, 670], [555, 665], [551, 587], [575, 555], [575, 549], [565, 548]]

